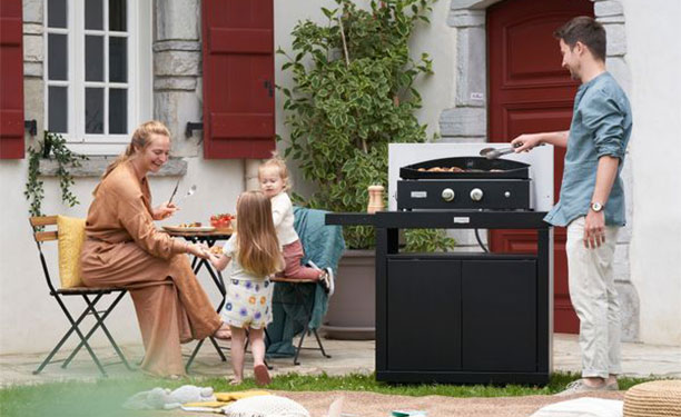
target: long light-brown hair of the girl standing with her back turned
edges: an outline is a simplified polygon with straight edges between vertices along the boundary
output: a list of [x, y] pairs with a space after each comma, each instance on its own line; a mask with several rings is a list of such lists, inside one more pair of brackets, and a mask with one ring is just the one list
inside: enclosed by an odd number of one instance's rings
[[237, 259], [258, 277], [284, 268], [277, 231], [272, 219], [272, 202], [263, 191], [246, 191], [237, 201]]

